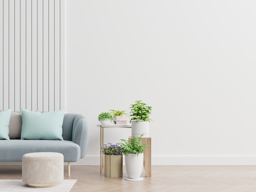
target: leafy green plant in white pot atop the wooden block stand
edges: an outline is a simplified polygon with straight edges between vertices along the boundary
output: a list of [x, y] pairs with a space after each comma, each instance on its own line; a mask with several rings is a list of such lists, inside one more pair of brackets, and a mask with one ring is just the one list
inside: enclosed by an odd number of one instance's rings
[[131, 109], [130, 116], [132, 117], [130, 119], [130, 123], [132, 123], [132, 136], [139, 137], [141, 134], [144, 134], [144, 137], [149, 137], [149, 122], [152, 121], [149, 115], [151, 114], [152, 107], [141, 101], [135, 101], [129, 108]]

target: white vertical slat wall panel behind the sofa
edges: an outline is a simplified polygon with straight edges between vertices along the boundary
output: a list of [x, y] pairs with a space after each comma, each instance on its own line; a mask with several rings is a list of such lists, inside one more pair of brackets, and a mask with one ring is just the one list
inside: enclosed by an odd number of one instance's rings
[[0, 109], [65, 107], [65, 0], [0, 0]]

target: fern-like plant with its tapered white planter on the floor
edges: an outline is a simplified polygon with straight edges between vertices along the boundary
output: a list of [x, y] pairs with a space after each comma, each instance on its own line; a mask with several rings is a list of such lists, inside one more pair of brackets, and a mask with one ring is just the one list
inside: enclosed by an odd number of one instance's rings
[[143, 168], [143, 152], [144, 148], [149, 146], [148, 144], [141, 145], [140, 137], [132, 136], [130, 140], [120, 139], [124, 143], [121, 143], [121, 149], [125, 155], [125, 165], [128, 178], [126, 180], [138, 181]]

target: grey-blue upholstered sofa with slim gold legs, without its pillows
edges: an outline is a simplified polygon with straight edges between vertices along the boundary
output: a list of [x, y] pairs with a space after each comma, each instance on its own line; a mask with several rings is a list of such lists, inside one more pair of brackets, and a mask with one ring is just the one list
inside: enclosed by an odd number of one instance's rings
[[81, 114], [67, 113], [63, 119], [63, 141], [60, 140], [0, 140], [0, 162], [22, 162], [22, 156], [32, 152], [58, 152], [64, 162], [79, 161], [85, 156], [89, 141], [89, 123]]

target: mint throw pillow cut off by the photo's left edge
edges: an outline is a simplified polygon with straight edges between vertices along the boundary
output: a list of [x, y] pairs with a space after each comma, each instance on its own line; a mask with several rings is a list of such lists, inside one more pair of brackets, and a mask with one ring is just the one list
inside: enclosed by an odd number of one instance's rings
[[7, 109], [3, 112], [0, 112], [0, 139], [10, 139], [8, 134], [11, 110], [12, 109]]

